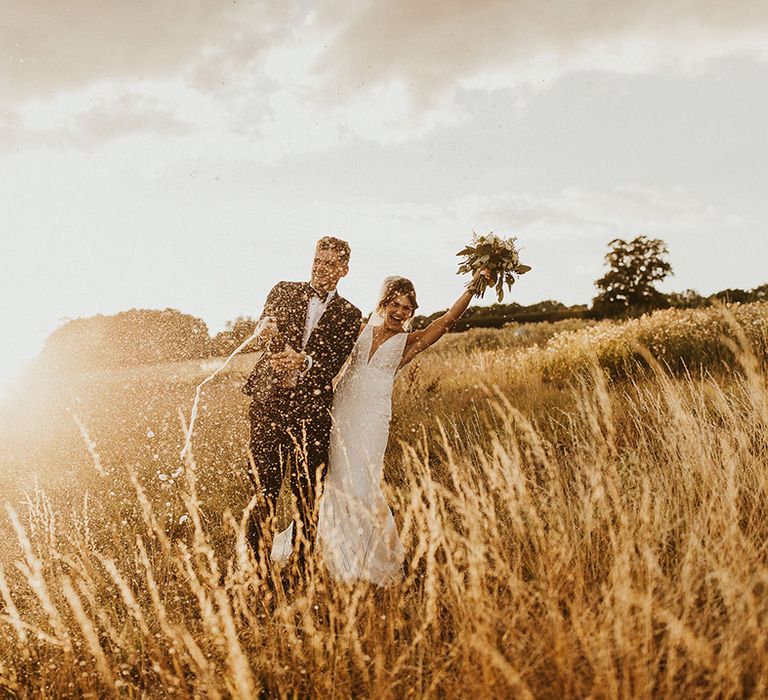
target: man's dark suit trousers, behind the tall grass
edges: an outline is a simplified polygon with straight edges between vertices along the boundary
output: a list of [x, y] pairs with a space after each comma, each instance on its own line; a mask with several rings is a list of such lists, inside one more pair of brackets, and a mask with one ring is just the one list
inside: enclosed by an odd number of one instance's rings
[[269, 559], [275, 508], [285, 478], [290, 479], [293, 545], [299, 565], [312, 551], [317, 532], [317, 505], [328, 463], [330, 415], [286, 410], [276, 413], [253, 402], [249, 411], [251, 479], [259, 500], [248, 524], [248, 541], [257, 558], [263, 547]]

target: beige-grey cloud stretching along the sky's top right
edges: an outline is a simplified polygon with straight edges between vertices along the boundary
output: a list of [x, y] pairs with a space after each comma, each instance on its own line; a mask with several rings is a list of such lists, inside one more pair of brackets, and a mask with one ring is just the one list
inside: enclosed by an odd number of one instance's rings
[[460, 81], [508, 86], [585, 68], [646, 72], [741, 52], [764, 59], [768, 36], [768, 5], [757, 1], [389, 0], [350, 11], [325, 59], [329, 80], [403, 79], [422, 96]]

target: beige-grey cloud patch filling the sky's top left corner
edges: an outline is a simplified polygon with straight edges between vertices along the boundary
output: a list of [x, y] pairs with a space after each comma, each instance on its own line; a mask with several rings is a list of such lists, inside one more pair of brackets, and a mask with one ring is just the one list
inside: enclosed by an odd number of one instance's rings
[[3, 8], [0, 25], [0, 98], [24, 101], [105, 80], [163, 79], [201, 59], [218, 60], [226, 70], [257, 56], [289, 19], [289, 3], [13, 3]]

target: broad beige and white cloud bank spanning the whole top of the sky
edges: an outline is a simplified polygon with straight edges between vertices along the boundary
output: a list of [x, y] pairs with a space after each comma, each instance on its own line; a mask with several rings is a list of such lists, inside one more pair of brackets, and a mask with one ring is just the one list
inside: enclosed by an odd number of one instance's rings
[[191, 130], [203, 150], [273, 160], [350, 136], [418, 139], [466, 118], [459, 90], [524, 99], [574, 71], [764, 60], [766, 37], [762, 1], [161, 0], [142, 10], [29, 0], [0, 28], [10, 47], [0, 140], [86, 146]]

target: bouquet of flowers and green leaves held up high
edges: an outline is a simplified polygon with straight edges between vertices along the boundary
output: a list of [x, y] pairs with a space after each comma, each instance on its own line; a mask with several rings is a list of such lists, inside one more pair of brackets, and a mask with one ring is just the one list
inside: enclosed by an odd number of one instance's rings
[[478, 270], [488, 270], [490, 279], [478, 277], [467, 285], [467, 289], [475, 296], [482, 297], [487, 287], [496, 288], [499, 303], [504, 299], [504, 286], [511, 290], [515, 283], [515, 275], [524, 275], [531, 268], [520, 262], [520, 255], [515, 245], [517, 238], [500, 238], [489, 233], [478, 236], [472, 232], [472, 245], [456, 253], [465, 260], [459, 265], [456, 274], [476, 273]]

